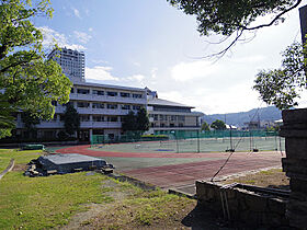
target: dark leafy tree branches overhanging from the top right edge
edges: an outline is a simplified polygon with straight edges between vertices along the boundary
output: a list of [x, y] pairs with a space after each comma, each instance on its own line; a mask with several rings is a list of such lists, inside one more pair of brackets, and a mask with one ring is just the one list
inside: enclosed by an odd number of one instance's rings
[[[220, 42], [232, 35], [232, 41], [221, 51], [223, 56], [239, 39], [243, 32], [255, 31], [284, 21], [284, 15], [297, 8], [302, 0], [167, 0], [173, 7], [186, 14], [195, 15], [201, 35], [212, 33], [225, 36]], [[272, 19], [262, 24], [255, 24], [260, 16], [272, 14]]]

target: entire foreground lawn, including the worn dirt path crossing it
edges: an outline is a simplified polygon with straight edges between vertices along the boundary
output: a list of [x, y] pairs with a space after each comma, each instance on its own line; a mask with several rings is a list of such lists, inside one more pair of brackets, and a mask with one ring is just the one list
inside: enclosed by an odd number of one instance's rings
[[[0, 150], [1, 159], [14, 158], [16, 164], [42, 153]], [[12, 171], [0, 181], [0, 229], [69, 228], [75, 222], [92, 229], [173, 229], [182, 228], [181, 220], [195, 206], [186, 197], [87, 172], [27, 177]]]

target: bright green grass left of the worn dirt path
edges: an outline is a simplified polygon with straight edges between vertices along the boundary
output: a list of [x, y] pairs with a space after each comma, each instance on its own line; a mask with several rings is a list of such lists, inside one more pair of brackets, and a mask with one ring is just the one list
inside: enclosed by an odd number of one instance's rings
[[[27, 163], [39, 154], [42, 151], [37, 150], [0, 150], [1, 162], [14, 158], [16, 164]], [[9, 172], [0, 181], [0, 229], [53, 228], [67, 223], [76, 211], [84, 210], [81, 204], [114, 202], [104, 195], [112, 191], [101, 186], [106, 176], [86, 172], [47, 177]]]

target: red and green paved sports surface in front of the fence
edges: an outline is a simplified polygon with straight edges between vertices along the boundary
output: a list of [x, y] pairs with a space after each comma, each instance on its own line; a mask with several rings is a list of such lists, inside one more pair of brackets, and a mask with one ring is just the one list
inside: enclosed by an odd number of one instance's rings
[[[149, 153], [104, 152], [76, 146], [58, 149], [59, 153], [80, 153], [100, 157], [113, 163], [116, 171], [162, 188], [192, 187], [196, 180], [211, 179], [230, 153]], [[235, 152], [218, 176], [232, 175], [251, 170], [281, 166], [281, 152]], [[190, 188], [189, 188], [190, 189]]]

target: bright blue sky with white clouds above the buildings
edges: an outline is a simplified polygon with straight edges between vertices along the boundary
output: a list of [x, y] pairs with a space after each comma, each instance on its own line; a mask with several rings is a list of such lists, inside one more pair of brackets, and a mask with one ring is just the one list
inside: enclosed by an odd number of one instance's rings
[[[307, 0], [303, 1], [305, 5]], [[44, 45], [84, 51], [86, 80], [148, 87], [160, 99], [205, 114], [266, 106], [252, 90], [255, 74], [281, 66], [281, 51], [300, 41], [298, 9], [284, 23], [247, 34], [218, 60], [204, 58], [226, 44], [200, 36], [197, 22], [167, 0], [52, 0], [54, 16], [35, 18]], [[257, 23], [270, 20], [259, 19]], [[307, 105], [306, 93], [302, 106]]]

